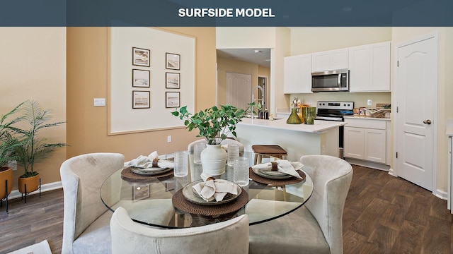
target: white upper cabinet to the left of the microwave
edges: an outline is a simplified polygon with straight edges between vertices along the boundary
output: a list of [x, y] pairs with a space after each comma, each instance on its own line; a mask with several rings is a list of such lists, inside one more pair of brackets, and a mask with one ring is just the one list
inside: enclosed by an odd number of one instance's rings
[[311, 54], [285, 57], [283, 84], [285, 94], [311, 93]]

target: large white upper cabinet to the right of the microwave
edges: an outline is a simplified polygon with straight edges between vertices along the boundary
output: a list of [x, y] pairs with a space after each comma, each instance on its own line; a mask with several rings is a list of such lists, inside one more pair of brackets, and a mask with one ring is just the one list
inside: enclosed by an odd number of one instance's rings
[[349, 48], [350, 92], [390, 92], [390, 42]]

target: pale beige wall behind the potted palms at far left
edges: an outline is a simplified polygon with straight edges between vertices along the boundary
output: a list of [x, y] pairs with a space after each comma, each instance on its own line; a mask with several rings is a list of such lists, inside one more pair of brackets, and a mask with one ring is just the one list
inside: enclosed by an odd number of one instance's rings
[[[0, 28], [0, 114], [26, 99], [52, 109], [52, 121], [66, 121], [66, 28]], [[67, 125], [42, 130], [49, 142], [66, 142]], [[60, 181], [66, 148], [35, 164], [42, 184]], [[14, 171], [17, 178], [23, 168]], [[13, 181], [13, 189], [17, 189]]]

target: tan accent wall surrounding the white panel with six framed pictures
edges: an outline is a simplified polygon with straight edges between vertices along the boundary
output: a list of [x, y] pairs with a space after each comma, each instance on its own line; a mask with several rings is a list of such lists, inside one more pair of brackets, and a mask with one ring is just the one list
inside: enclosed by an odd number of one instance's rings
[[[216, 84], [215, 28], [165, 30], [195, 37], [195, 108], [211, 107], [215, 103]], [[93, 98], [108, 98], [107, 45], [108, 28], [67, 28], [67, 142], [71, 145], [67, 156], [120, 152], [130, 160], [154, 150], [165, 154], [187, 149], [188, 143], [197, 139], [197, 131], [189, 133], [185, 128], [179, 128], [107, 134], [108, 107], [93, 107]], [[167, 143], [168, 135], [172, 136], [171, 143]]]

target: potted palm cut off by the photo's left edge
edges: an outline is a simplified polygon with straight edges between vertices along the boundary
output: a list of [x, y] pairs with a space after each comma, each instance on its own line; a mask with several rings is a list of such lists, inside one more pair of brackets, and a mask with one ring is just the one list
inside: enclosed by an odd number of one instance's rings
[[[13, 187], [13, 169], [8, 167], [8, 162], [17, 159], [14, 150], [21, 143], [11, 135], [10, 127], [21, 121], [21, 116], [15, 116], [19, 107], [21, 104], [0, 118], [0, 200], [6, 198], [7, 201]], [[8, 212], [8, 202], [6, 202], [6, 212]]]

